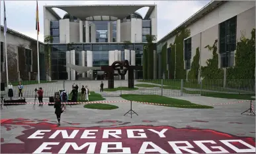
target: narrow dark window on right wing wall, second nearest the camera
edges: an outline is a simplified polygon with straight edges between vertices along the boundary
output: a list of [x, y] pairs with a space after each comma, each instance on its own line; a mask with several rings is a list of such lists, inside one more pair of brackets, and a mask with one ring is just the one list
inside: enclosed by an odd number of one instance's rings
[[189, 70], [191, 68], [191, 38], [184, 41], [184, 47], [185, 69]]

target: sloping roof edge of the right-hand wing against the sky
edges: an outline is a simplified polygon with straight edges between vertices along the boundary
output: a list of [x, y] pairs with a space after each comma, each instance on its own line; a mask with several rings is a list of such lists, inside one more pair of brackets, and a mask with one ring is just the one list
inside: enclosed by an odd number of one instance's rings
[[186, 28], [187, 26], [193, 24], [197, 20], [200, 20], [200, 18], [202, 18], [206, 14], [214, 11], [220, 5], [222, 5], [223, 3], [226, 3], [226, 1], [210, 1], [210, 3], [208, 3], [202, 9], [200, 9], [195, 14], [193, 14], [190, 18], [185, 20], [185, 22], [183, 22], [179, 26], [177, 26], [177, 28], [175, 28], [174, 30], [169, 32], [169, 34], [167, 34], [166, 36], [161, 38], [157, 43], [162, 43], [163, 41], [166, 41], [167, 39], [175, 36], [177, 33], [179, 33], [180, 30], [182, 30], [183, 28]]

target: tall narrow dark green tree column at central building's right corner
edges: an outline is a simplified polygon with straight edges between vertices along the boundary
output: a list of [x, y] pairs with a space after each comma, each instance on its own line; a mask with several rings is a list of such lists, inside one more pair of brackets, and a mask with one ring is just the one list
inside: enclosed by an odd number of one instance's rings
[[153, 44], [153, 41], [156, 40], [156, 37], [154, 35], [147, 35], [146, 36], [147, 40], [147, 59], [148, 59], [148, 79], [153, 79], [153, 50], [155, 49], [155, 46]]

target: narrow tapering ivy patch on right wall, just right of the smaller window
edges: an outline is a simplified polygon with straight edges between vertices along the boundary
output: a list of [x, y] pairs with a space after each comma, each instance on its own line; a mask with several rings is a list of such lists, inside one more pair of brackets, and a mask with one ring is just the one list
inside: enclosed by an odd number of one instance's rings
[[199, 52], [199, 47], [196, 48], [196, 55], [193, 57], [193, 61], [191, 63], [191, 70], [189, 71], [188, 78], [190, 80], [198, 80], [198, 74], [199, 74], [199, 64], [200, 60], [200, 52]]

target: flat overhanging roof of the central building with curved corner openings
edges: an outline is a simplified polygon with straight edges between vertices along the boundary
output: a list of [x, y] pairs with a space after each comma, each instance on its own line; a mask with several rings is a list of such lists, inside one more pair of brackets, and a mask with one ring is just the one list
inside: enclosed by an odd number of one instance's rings
[[62, 9], [72, 16], [85, 20], [85, 18], [90, 16], [113, 16], [123, 19], [142, 7], [149, 7], [148, 13], [145, 16], [145, 18], [149, 18], [156, 5], [47, 5], [44, 7], [59, 19], [60, 16], [55, 13], [53, 8]]

